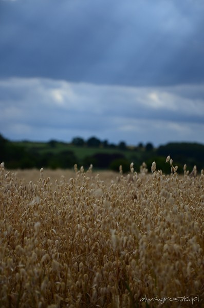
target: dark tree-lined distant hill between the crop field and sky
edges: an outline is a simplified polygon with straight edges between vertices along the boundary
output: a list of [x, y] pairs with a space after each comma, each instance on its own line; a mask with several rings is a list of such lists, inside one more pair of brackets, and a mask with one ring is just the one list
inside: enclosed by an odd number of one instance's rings
[[166, 157], [170, 155], [178, 172], [183, 172], [183, 165], [187, 164], [189, 170], [194, 165], [200, 170], [204, 168], [204, 145], [198, 143], [168, 143], [154, 148], [151, 143], [143, 146], [128, 147], [124, 142], [118, 145], [108, 144], [95, 137], [85, 142], [81, 138], [74, 138], [73, 143], [50, 140], [49, 142], [13, 142], [0, 134], [0, 161], [5, 162], [8, 169], [15, 168], [68, 168], [75, 164], [88, 168], [90, 164], [95, 169], [112, 169], [123, 172], [129, 171], [129, 165], [134, 163], [134, 170], [139, 171], [140, 165], [145, 162], [151, 171], [152, 162], [156, 162], [157, 169], [170, 173], [169, 164], [165, 164]]

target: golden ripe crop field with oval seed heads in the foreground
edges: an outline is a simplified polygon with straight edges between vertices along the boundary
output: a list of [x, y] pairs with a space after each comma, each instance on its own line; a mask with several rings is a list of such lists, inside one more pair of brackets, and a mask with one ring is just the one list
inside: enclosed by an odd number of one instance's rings
[[0, 307], [204, 307], [203, 170], [166, 164], [2, 163]]

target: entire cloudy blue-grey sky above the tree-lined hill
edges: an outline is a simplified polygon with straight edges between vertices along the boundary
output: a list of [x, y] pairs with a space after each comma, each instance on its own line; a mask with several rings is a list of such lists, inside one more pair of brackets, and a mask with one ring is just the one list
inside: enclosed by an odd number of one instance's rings
[[203, 15], [203, 0], [0, 0], [0, 133], [204, 144]]

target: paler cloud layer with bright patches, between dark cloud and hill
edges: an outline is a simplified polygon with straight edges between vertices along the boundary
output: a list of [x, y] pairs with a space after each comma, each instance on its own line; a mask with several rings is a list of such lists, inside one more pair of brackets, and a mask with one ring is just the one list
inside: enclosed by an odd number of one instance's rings
[[203, 143], [203, 85], [143, 88], [8, 79], [0, 82], [0, 91], [0, 131], [9, 139], [71, 141], [94, 135], [133, 145]]

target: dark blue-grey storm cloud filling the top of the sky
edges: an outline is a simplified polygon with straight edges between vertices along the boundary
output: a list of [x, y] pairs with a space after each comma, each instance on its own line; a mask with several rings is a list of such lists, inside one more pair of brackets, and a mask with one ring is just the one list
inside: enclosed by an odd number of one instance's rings
[[0, 77], [201, 83], [202, 1], [0, 0]]

